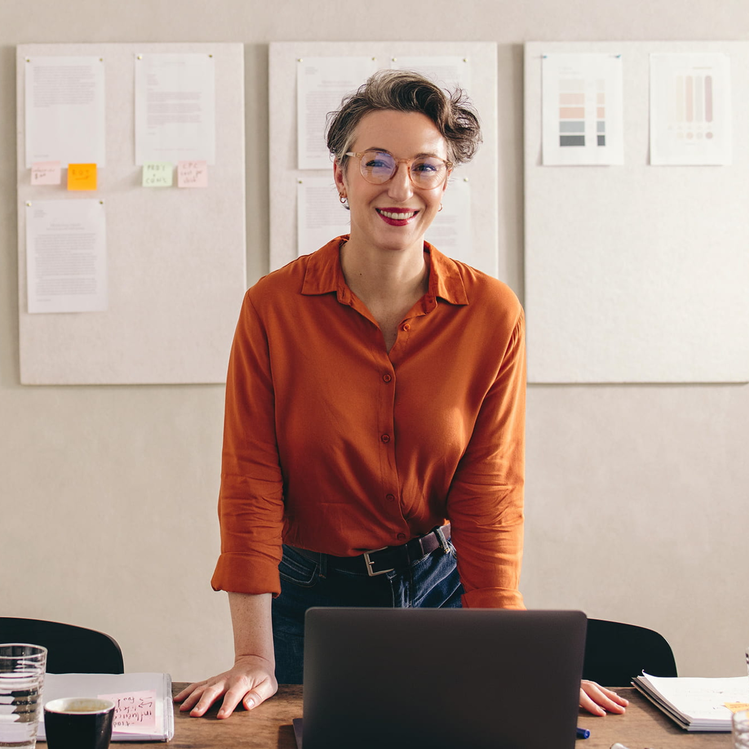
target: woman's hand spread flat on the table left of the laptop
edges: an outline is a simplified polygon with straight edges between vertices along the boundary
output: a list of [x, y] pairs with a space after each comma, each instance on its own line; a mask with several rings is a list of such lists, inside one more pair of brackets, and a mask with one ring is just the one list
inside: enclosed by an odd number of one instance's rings
[[189, 710], [192, 718], [199, 718], [223, 696], [224, 700], [216, 717], [228, 718], [240, 702], [245, 709], [252, 710], [276, 694], [279, 685], [273, 671], [273, 663], [267, 658], [243, 655], [237, 658], [228, 671], [184, 688], [175, 697], [175, 702], [182, 703], [182, 712]]

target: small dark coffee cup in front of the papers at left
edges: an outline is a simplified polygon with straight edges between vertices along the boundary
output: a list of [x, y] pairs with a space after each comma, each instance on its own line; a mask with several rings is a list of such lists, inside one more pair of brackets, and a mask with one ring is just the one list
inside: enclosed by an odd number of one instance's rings
[[48, 749], [107, 749], [112, 739], [115, 703], [64, 697], [44, 706]]

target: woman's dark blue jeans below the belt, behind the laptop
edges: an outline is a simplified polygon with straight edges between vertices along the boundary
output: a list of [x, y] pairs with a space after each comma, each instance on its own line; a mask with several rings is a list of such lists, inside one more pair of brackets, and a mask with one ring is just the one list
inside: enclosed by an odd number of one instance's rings
[[304, 664], [304, 613], [312, 606], [460, 608], [463, 586], [455, 548], [438, 548], [398, 571], [369, 577], [364, 562], [355, 573], [331, 568], [320, 554], [308, 559], [284, 546], [279, 564], [281, 595], [273, 599], [273, 646], [279, 684], [301, 684]]

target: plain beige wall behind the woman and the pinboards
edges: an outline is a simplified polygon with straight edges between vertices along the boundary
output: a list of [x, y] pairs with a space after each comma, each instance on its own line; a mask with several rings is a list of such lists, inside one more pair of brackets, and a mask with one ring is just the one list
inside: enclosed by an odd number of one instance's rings
[[[222, 388], [19, 385], [14, 46], [245, 43], [252, 282], [267, 270], [268, 42], [496, 41], [500, 274], [522, 297], [522, 43], [741, 40], [749, 5], [465, 0], [458, 7], [0, 0], [0, 613], [108, 631], [127, 670], [192, 679], [231, 660], [225, 594], [208, 584], [218, 547]], [[531, 387], [527, 604], [656, 628], [683, 675], [742, 673], [748, 443], [746, 386]]]

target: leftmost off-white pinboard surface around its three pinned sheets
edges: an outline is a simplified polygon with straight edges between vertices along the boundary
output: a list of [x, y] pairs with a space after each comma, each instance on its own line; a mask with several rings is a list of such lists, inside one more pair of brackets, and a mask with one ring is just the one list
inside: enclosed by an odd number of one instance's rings
[[[22, 383], [223, 382], [246, 290], [243, 45], [24, 44], [16, 52]], [[212, 55], [215, 64], [216, 154], [202, 189], [148, 189], [136, 165], [136, 56], [173, 52]], [[25, 166], [27, 60], [90, 55], [105, 66], [106, 161], [97, 189], [31, 185]], [[97, 199], [106, 213], [108, 306], [29, 314], [27, 204], [82, 198]]]

